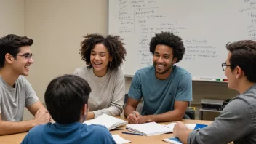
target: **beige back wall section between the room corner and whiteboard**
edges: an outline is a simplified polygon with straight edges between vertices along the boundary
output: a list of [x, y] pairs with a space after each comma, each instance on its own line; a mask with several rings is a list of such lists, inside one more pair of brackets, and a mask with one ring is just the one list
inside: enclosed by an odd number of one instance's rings
[[34, 39], [35, 55], [28, 81], [42, 103], [49, 81], [85, 65], [79, 55], [82, 36], [106, 35], [107, 12], [105, 0], [25, 0], [25, 35]]

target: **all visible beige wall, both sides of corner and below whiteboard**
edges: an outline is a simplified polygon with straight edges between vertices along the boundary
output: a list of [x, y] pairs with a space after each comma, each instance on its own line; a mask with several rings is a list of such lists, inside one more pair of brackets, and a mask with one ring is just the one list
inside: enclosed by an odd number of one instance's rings
[[[82, 36], [107, 34], [107, 6], [107, 0], [0, 0], [0, 35], [16, 33], [34, 40], [35, 63], [28, 81], [42, 103], [49, 81], [85, 65], [79, 55]], [[126, 92], [130, 83], [127, 78]], [[193, 82], [193, 103], [203, 97], [226, 99], [236, 94], [227, 84]], [[25, 111], [24, 119], [31, 118]]]

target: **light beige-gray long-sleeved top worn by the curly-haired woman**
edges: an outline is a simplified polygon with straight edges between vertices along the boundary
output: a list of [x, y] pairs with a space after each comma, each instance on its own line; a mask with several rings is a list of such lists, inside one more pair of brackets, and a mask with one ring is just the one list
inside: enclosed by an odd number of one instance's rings
[[95, 113], [95, 118], [103, 113], [119, 116], [124, 105], [124, 73], [121, 68], [108, 69], [103, 77], [95, 76], [93, 68], [77, 68], [74, 75], [87, 80], [92, 92], [89, 96], [89, 111]]

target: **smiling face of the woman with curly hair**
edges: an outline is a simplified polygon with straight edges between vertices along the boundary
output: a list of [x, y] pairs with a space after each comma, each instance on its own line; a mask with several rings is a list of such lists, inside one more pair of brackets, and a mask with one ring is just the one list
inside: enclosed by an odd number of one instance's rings
[[96, 76], [105, 76], [108, 71], [108, 63], [112, 61], [107, 47], [103, 44], [96, 44], [90, 55], [93, 71]]

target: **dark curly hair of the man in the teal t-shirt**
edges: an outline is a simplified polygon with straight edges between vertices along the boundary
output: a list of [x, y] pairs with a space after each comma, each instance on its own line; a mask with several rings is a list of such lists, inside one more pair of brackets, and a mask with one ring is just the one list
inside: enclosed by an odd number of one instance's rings
[[177, 57], [176, 63], [183, 59], [185, 47], [180, 36], [175, 36], [173, 33], [163, 31], [156, 33], [156, 36], [151, 39], [151, 43], [149, 44], [149, 49], [152, 54], [154, 54], [158, 44], [164, 44], [172, 48], [173, 57]]

